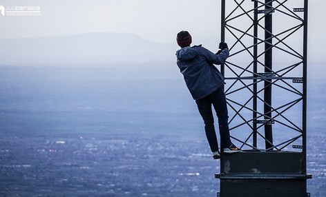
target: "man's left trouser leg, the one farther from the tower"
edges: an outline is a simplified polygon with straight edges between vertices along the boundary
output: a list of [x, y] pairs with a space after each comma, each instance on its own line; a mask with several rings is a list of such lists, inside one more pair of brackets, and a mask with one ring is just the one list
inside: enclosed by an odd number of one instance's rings
[[216, 138], [214, 117], [211, 109], [211, 101], [209, 97], [202, 98], [196, 101], [198, 110], [205, 124], [205, 133], [211, 152], [218, 152], [218, 139]]

